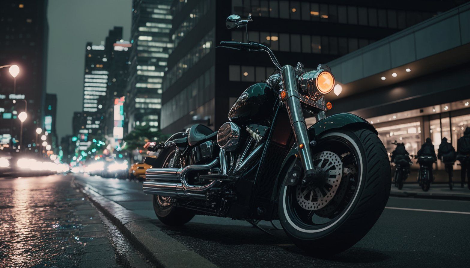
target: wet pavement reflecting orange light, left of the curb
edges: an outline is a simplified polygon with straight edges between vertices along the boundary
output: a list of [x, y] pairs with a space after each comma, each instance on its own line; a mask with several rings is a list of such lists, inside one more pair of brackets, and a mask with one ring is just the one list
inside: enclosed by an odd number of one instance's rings
[[0, 268], [121, 267], [72, 176], [0, 178]]

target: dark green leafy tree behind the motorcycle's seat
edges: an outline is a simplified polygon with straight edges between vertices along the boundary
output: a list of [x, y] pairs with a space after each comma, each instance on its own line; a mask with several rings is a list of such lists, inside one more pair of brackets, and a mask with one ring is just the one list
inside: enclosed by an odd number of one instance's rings
[[142, 149], [142, 146], [148, 141], [164, 142], [168, 137], [168, 135], [163, 134], [160, 130], [150, 130], [149, 125], [136, 126], [124, 137], [126, 145], [123, 149], [128, 151]]

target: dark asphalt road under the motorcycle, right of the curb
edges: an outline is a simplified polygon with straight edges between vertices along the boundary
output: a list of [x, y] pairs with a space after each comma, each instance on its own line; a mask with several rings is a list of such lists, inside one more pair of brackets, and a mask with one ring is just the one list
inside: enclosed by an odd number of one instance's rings
[[[77, 176], [100, 194], [137, 214], [219, 267], [468, 267], [470, 201], [391, 197], [372, 230], [351, 249], [330, 258], [299, 250], [267, 222], [267, 235], [247, 222], [196, 216], [170, 228], [156, 219], [141, 182]], [[279, 222], [275, 222], [280, 226]]]

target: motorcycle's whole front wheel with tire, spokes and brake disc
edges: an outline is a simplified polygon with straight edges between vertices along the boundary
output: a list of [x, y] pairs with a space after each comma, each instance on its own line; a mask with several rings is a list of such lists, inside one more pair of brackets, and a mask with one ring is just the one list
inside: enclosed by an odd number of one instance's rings
[[390, 195], [390, 162], [370, 130], [328, 132], [313, 151], [313, 164], [325, 171], [325, 184], [288, 185], [288, 168], [280, 187], [279, 218], [305, 252], [336, 254], [364, 237], [384, 210]]

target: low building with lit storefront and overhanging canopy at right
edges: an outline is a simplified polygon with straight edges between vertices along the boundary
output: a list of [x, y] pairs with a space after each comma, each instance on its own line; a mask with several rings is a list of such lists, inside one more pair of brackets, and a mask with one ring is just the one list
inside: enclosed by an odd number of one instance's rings
[[389, 153], [396, 140], [415, 155], [428, 137], [436, 153], [444, 137], [457, 148], [470, 126], [469, 25], [467, 3], [330, 61], [341, 90], [328, 95], [327, 115], [366, 118]]

